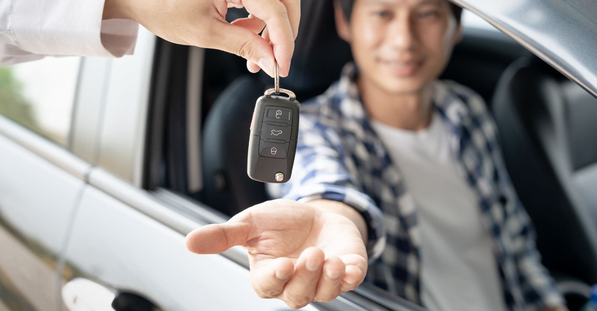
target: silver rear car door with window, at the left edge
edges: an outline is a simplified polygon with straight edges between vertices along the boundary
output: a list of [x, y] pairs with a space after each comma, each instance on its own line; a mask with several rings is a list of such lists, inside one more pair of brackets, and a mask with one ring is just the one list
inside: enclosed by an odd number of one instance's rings
[[60, 254], [89, 165], [69, 152], [80, 57], [0, 68], [0, 310], [60, 310]]

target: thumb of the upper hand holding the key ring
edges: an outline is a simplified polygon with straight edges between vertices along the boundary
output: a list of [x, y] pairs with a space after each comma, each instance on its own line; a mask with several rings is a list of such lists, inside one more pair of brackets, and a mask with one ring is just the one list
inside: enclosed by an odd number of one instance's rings
[[210, 48], [227, 51], [256, 63], [268, 75], [273, 76], [273, 48], [257, 33], [245, 27], [219, 23], [212, 27], [214, 41]]

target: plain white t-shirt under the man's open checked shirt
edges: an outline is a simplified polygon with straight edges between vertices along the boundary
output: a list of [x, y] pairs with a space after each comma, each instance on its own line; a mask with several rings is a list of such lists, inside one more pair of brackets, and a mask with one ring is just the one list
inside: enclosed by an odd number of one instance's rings
[[429, 310], [506, 310], [496, 258], [473, 189], [458, 174], [447, 129], [408, 131], [371, 124], [398, 165], [417, 205], [421, 300]]

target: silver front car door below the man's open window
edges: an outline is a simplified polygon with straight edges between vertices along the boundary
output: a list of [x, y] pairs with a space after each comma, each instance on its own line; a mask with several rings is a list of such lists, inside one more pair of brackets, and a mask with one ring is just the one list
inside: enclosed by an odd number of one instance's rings
[[[162, 310], [287, 309], [254, 294], [248, 270], [236, 263], [242, 258], [186, 250], [186, 233], [213, 222], [215, 214], [210, 220], [185, 214], [141, 188], [151, 73], [159, 55], [154, 45], [155, 37], [142, 29], [134, 57], [109, 60], [100, 112], [81, 107], [73, 121], [73, 150], [94, 168], [64, 253], [62, 298], [72, 310], [109, 309], [114, 298], [116, 310], [127, 304]], [[86, 122], [94, 114], [102, 116], [100, 125]], [[96, 146], [90, 151], [83, 146], [94, 132]]]

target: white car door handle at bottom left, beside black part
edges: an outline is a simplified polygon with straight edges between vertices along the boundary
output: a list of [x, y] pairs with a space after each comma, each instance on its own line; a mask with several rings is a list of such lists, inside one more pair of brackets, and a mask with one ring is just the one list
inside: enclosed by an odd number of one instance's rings
[[69, 311], [114, 311], [116, 293], [84, 278], [75, 278], [62, 287], [62, 300]]

